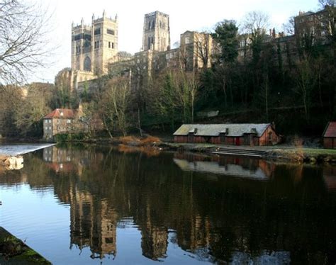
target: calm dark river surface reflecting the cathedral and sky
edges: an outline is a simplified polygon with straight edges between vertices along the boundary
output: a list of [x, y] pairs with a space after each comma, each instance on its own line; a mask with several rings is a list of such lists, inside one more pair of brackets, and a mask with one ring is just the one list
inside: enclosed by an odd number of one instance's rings
[[53, 264], [335, 264], [336, 168], [48, 147], [0, 169], [0, 225]]

